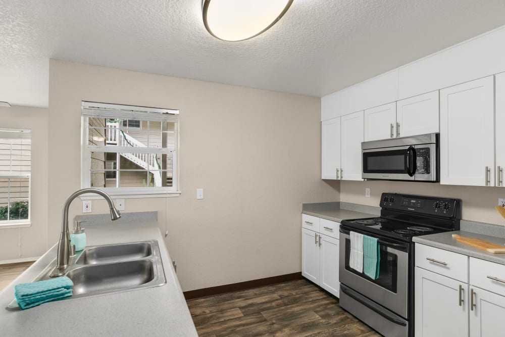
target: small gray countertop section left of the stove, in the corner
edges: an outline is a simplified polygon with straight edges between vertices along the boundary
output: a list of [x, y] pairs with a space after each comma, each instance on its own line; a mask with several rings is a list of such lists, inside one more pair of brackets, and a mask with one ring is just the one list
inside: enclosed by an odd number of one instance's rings
[[378, 216], [380, 215], [380, 208], [340, 202], [317, 203], [303, 204], [301, 213], [340, 222], [345, 219], [372, 218]]

